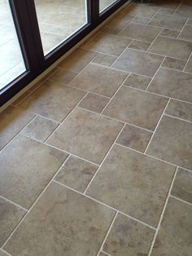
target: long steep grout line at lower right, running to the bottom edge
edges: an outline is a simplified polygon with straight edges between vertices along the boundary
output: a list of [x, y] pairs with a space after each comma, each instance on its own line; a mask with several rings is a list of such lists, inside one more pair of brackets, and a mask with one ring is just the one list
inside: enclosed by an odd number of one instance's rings
[[160, 228], [160, 225], [161, 225], [161, 223], [162, 223], [162, 219], [163, 219], [163, 217], [164, 217], [165, 209], [166, 209], [166, 207], [167, 207], [167, 205], [168, 205], [168, 199], [169, 199], [169, 196], [170, 196], [171, 191], [172, 191], [172, 186], [173, 186], [174, 180], [175, 180], [175, 178], [176, 178], [176, 174], [177, 174], [177, 168], [176, 168], [176, 170], [175, 170], [175, 173], [174, 173], [173, 178], [172, 178], [172, 183], [171, 183], [170, 188], [169, 188], [169, 190], [168, 190], [168, 196], [167, 196], [167, 198], [166, 198], [166, 200], [165, 200], [165, 202], [164, 202], [164, 208], [163, 208], [162, 213], [161, 213], [161, 215], [160, 215], [159, 223], [158, 223], [158, 225], [157, 225], [157, 228], [156, 228], [156, 231], [155, 231], [155, 235], [154, 235], [153, 241], [151, 242], [151, 248], [150, 248], [150, 250], [149, 250], [148, 256], [151, 256], [152, 249], [153, 249], [153, 247], [154, 247], [154, 245], [155, 245], [156, 237], [157, 237], [157, 235], [158, 235], [159, 228]]

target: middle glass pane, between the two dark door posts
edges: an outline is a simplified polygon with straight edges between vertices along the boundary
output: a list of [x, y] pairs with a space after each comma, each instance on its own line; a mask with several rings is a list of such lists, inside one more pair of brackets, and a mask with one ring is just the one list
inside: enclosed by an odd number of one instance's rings
[[44, 54], [87, 24], [86, 0], [35, 0]]

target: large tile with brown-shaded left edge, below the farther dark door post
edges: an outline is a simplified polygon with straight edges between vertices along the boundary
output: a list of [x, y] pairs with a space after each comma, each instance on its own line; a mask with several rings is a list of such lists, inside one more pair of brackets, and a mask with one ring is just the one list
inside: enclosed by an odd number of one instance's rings
[[120, 38], [109, 33], [99, 33], [84, 48], [90, 51], [119, 56], [131, 42], [128, 38]]

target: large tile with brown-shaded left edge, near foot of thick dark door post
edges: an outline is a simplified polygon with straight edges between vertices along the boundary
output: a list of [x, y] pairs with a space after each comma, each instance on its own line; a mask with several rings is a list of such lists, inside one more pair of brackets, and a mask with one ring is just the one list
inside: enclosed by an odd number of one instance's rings
[[63, 121], [83, 96], [85, 91], [63, 86], [59, 82], [46, 81], [24, 99], [20, 108], [55, 121]]

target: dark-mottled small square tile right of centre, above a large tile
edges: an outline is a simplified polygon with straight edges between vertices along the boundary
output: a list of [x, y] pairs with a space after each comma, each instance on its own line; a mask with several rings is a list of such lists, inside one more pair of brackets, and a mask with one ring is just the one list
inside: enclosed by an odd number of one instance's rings
[[126, 125], [124, 130], [121, 131], [116, 142], [124, 145], [125, 147], [144, 152], [151, 139], [151, 135], [152, 132], [150, 131], [142, 130], [135, 126]]

